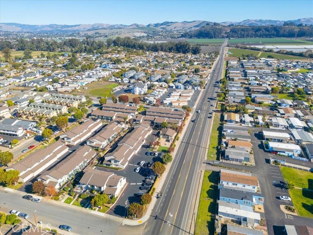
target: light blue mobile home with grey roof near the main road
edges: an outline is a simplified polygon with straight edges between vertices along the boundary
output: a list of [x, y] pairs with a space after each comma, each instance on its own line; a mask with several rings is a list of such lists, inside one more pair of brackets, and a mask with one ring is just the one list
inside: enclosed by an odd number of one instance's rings
[[220, 201], [252, 207], [253, 205], [263, 205], [264, 197], [255, 192], [220, 188]]

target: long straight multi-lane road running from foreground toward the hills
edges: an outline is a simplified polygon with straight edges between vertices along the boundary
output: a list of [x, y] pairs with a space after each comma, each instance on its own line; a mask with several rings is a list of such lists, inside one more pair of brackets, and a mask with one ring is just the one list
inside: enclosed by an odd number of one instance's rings
[[156, 203], [151, 218], [146, 223], [145, 235], [186, 235], [193, 234], [191, 222], [196, 219], [194, 213], [195, 199], [203, 157], [206, 151], [211, 118], [208, 118], [216, 105], [216, 101], [208, 102], [208, 98], [216, 97], [215, 82], [221, 79], [224, 67], [224, 47], [200, 97], [179, 151], [172, 164], [172, 169], [164, 182], [162, 197]]

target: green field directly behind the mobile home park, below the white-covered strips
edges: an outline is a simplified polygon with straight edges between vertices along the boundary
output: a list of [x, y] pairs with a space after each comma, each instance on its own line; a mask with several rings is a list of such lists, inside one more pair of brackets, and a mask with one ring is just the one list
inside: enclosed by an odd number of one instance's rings
[[240, 48], [233, 48], [233, 49], [229, 49], [228, 51], [231, 52], [231, 54], [228, 54], [229, 57], [241, 57], [242, 55], [252, 54], [253, 56], [256, 56], [259, 58], [262, 58], [262, 57], [267, 58], [268, 55], [271, 55], [275, 59], [287, 59], [287, 60], [305, 60], [305, 59], [308, 59], [308, 58], [300, 57], [300, 56], [262, 52], [262, 51], [257, 51], [257, 50], [246, 50], [246, 49], [240, 49]]

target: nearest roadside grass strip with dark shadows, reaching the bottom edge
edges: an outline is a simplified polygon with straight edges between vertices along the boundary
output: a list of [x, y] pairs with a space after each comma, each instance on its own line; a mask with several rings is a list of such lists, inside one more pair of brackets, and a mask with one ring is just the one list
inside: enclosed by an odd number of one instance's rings
[[214, 234], [219, 172], [206, 170], [203, 176], [195, 235]]

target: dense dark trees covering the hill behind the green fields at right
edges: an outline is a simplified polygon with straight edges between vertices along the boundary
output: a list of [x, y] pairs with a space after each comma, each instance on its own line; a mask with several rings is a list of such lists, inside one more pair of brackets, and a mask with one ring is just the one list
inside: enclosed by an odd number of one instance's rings
[[261, 26], [220, 26], [205, 25], [185, 32], [183, 38], [279, 38], [313, 37], [312, 26], [261, 25]]

